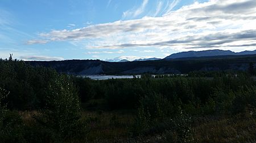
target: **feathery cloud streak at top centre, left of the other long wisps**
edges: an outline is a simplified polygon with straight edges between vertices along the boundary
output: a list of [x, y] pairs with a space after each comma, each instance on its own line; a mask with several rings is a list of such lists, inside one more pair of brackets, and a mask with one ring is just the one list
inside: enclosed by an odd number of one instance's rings
[[133, 8], [132, 10], [127, 10], [123, 12], [122, 18], [127, 18], [127, 17], [135, 18], [138, 15], [141, 15], [147, 6], [147, 3], [148, 3], [148, 0], [143, 0], [142, 5], [139, 6], [138, 8]]

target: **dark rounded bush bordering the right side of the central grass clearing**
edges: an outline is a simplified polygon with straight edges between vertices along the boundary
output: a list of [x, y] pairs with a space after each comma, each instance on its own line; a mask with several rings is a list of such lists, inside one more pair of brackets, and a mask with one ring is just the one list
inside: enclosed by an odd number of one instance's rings
[[[165, 121], [180, 112], [180, 101], [172, 103], [160, 94], [152, 93], [140, 99], [132, 132], [134, 135], [150, 134], [165, 130]], [[164, 128], [162, 128], [164, 127]], [[162, 132], [162, 131], [161, 131]]]

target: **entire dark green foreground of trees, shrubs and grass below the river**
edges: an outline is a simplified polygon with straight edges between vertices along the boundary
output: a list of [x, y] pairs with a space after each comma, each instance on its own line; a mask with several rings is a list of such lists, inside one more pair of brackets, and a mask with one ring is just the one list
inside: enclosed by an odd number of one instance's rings
[[0, 142], [256, 142], [247, 71], [92, 80], [0, 59]]

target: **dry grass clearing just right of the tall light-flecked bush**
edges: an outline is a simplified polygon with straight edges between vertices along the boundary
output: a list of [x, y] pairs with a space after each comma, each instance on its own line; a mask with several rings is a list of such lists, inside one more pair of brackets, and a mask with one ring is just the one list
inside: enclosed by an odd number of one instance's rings
[[135, 115], [127, 111], [82, 112], [82, 120], [90, 128], [88, 140], [115, 140], [127, 138]]

